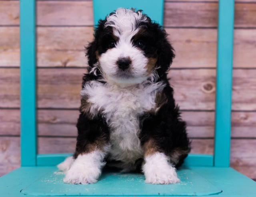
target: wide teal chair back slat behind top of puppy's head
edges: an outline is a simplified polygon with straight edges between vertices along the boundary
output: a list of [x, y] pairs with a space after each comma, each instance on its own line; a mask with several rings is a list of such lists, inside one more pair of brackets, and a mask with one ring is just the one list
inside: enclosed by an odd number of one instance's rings
[[117, 8], [143, 10], [152, 20], [163, 25], [164, 0], [93, 0], [94, 24]]

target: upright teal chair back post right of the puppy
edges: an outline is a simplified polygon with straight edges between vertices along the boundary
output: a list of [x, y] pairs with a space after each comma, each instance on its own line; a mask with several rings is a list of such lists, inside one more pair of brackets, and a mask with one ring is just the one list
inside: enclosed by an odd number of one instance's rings
[[214, 165], [230, 163], [234, 0], [219, 0]]

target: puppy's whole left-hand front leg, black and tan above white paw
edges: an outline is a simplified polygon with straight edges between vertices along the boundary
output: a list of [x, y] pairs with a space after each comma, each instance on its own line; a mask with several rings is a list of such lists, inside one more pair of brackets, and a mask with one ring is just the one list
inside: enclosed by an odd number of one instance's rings
[[70, 184], [96, 183], [109, 148], [108, 128], [102, 118], [91, 120], [84, 114], [80, 114], [77, 128], [74, 162], [63, 180]]

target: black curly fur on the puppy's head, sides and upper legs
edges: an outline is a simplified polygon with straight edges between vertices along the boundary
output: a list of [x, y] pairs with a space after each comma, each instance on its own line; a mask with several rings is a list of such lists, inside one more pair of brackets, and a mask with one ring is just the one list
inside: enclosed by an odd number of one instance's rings
[[[111, 15], [111, 14], [110, 14]], [[145, 15], [146, 16], [146, 15]], [[146, 22], [138, 23], [138, 27], [142, 27], [144, 30], [144, 42], [146, 48], [144, 54], [147, 57], [157, 58], [155, 67], [158, 72], [158, 81], [163, 81], [166, 87], [162, 91], [162, 95], [167, 98], [157, 113], [144, 112], [143, 115], [138, 116], [140, 120], [139, 138], [142, 146], [150, 139], [154, 139], [159, 152], [164, 152], [170, 157], [170, 161], [180, 166], [184, 158], [190, 151], [190, 142], [186, 134], [186, 123], [182, 121], [178, 106], [176, 106], [173, 98], [173, 89], [170, 87], [167, 79], [167, 71], [172, 64], [172, 60], [175, 57], [174, 49], [167, 39], [165, 30], [162, 29], [157, 23], [150, 20], [148, 16]], [[101, 55], [107, 51], [105, 41], [112, 36], [112, 28], [104, 27], [105, 20], [100, 20], [98, 26], [94, 32], [94, 40], [89, 43], [87, 50], [88, 57], [88, 74], [83, 77], [83, 85], [88, 81], [102, 79], [102, 74], [99, 70], [96, 70], [96, 75], [90, 73], [94, 65], [98, 62], [97, 53]], [[102, 82], [104, 83], [104, 82]], [[88, 118], [86, 114], [81, 112], [77, 123], [78, 137], [76, 145], [76, 158], [78, 154], [86, 152], [86, 147], [90, 143], [94, 143], [98, 138], [104, 136], [104, 142], [109, 143], [110, 129], [104, 120], [104, 116], [99, 115], [94, 118]], [[172, 156], [178, 155], [178, 159], [172, 160]], [[140, 162], [141, 163], [141, 162]]]

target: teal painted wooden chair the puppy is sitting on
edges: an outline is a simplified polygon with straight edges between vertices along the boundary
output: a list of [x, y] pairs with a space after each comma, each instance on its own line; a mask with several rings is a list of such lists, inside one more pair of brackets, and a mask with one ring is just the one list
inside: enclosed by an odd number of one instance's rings
[[[142, 8], [162, 24], [163, 0], [94, 0], [94, 22], [118, 7]], [[106, 171], [96, 184], [68, 185], [56, 164], [70, 154], [36, 151], [35, 1], [20, 0], [21, 167], [0, 177], [0, 196], [229, 196], [255, 197], [256, 183], [229, 167], [234, 0], [219, 0], [214, 156], [190, 154], [180, 183], [151, 185], [135, 173]]]

